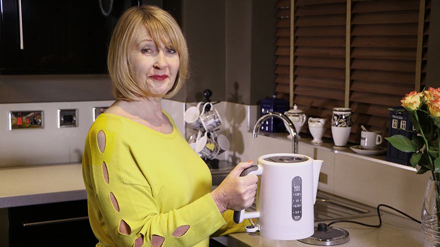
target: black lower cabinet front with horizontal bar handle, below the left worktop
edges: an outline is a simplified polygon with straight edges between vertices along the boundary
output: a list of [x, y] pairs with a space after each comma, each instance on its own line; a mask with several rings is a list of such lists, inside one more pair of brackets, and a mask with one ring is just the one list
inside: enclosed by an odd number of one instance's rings
[[[95, 246], [87, 200], [8, 209], [9, 247]], [[2, 243], [3, 244], [3, 243]]]

